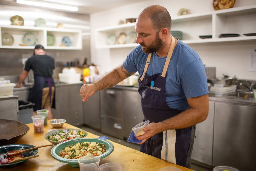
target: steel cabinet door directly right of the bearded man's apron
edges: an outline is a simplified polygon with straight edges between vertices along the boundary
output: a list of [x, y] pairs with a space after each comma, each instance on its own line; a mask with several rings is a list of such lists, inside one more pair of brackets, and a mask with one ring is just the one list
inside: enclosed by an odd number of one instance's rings
[[196, 124], [192, 159], [212, 165], [214, 102], [209, 102], [209, 113], [205, 121]]

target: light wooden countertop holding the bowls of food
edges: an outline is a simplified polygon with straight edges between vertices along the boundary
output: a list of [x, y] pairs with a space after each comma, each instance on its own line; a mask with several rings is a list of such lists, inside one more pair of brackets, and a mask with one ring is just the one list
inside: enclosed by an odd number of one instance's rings
[[[34, 127], [33, 123], [27, 124], [30, 128], [29, 132], [20, 138], [18, 141], [16, 141], [13, 144], [30, 144], [34, 146], [41, 146], [41, 145], [46, 145], [50, 144], [49, 141], [47, 141], [44, 136], [46, 134], [46, 131], [49, 129], [53, 129], [51, 124], [49, 123], [46, 126], [44, 126], [44, 132], [42, 133], [34, 133]], [[79, 129], [75, 126], [72, 126], [70, 124], [65, 123], [62, 128], [74, 128], [74, 129]], [[88, 138], [98, 138], [99, 136], [87, 132]], [[107, 157], [103, 158], [100, 160], [100, 165], [104, 163], [119, 163], [123, 166], [123, 171], [126, 170], [131, 170], [131, 171], [136, 171], [136, 170], [159, 170], [163, 167], [167, 166], [172, 166], [172, 167], [177, 167], [183, 171], [191, 171], [191, 169], [166, 162], [164, 160], [161, 160], [159, 158], [153, 157], [151, 155], [139, 152], [137, 150], [134, 150], [132, 148], [123, 146], [121, 144], [115, 143], [110, 141], [114, 145], [114, 151]], [[6, 169], [1, 169], [2, 170], [44, 170], [44, 171], [50, 171], [50, 170], [57, 170], [57, 171], [63, 171], [63, 170], [79, 170], [79, 167], [72, 167], [68, 163], [62, 163], [54, 158], [51, 157], [50, 151], [53, 146], [48, 146], [48, 147], [42, 147], [38, 149], [38, 155], [39, 157], [29, 159], [22, 164], [13, 167], [13, 168], [6, 168]]]

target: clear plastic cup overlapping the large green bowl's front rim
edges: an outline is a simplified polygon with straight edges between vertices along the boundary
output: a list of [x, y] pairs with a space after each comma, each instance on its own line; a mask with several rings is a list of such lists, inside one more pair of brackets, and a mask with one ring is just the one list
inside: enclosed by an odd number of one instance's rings
[[78, 159], [80, 171], [98, 171], [100, 158], [98, 156], [83, 156]]

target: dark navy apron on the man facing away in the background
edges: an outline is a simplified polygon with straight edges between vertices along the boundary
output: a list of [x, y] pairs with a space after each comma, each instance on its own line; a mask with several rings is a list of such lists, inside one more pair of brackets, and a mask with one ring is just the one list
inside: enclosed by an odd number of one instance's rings
[[[42, 109], [42, 92], [45, 85], [45, 82], [47, 82], [49, 86], [49, 93], [50, 93], [50, 103], [51, 103], [51, 87], [54, 86], [54, 80], [52, 77], [46, 78], [43, 76], [35, 75], [34, 74], [34, 86], [31, 89], [30, 92], [30, 102], [35, 103], [34, 111]], [[52, 85], [52, 83], [53, 85]], [[55, 108], [55, 99], [53, 100], [52, 108]]]

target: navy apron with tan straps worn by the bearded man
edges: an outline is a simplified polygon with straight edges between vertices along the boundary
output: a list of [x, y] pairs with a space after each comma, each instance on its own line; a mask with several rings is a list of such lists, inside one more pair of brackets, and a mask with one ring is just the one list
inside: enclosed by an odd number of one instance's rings
[[[161, 122], [182, 112], [182, 110], [170, 108], [166, 102], [165, 96], [166, 70], [169, 65], [170, 57], [172, 56], [174, 45], [175, 39], [172, 37], [171, 46], [162, 73], [146, 76], [146, 70], [150, 64], [152, 55], [149, 54], [144, 72], [139, 79], [138, 91], [141, 95], [144, 119], [150, 122]], [[154, 84], [152, 84], [152, 81]], [[192, 127], [188, 127], [155, 134], [140, 145], [140, 151], [185, 167], [189, 151], [191, 130]]]

